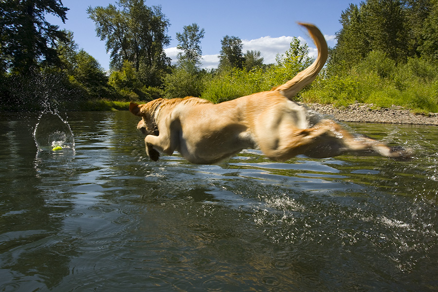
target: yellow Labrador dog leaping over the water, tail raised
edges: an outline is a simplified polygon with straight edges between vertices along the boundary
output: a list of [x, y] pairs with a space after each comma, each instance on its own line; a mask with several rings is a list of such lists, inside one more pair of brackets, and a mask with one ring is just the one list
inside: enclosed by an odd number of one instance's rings
[[269, 159], [286, 161], [304, 154], [326, 158], [352, 153], [404, 157], [406, 151], [355, 136], [329, 119], [321, 119], [292, 97], [315, 79], [327, 56], [327, 43], [319, 29], [306, 23], [318, 56], [292, 80], [271, 91], [213, 104], [197, 97], [156, 99], [130, 103], [142, 117], [137, 128], [146, 135], [146, 153], [153, 161], [160, 153], [177, 150], [194, 164], [215, 164], [246, 148], [258, 148]]

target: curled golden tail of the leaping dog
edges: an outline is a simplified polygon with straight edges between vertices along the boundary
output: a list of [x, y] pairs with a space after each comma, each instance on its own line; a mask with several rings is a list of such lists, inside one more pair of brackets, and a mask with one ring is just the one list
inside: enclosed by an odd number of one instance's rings
[[323, 34], [319, 31], [319, 29], [310, 23], [301, 23], [298, 24], [304, 26], [309, 31], [310, 37], [312, 37], [315, 42], [316, 48], [318, 49], [318, 56], [316, 60], [306, 69], [296, 74], [291, 80], [286, 82], [283, 85], [278, 86], [273, 89], [273, 91], [280, 91], [281, 94], [286, 96], [289, 99], [292, 97], [303, 87], [310, 84], [318, 75], [319, 71], [324, 67], [324, 64], [327, 61], [327, 57], [329, 55], [329, 50], [327, 48], [326, 39]]

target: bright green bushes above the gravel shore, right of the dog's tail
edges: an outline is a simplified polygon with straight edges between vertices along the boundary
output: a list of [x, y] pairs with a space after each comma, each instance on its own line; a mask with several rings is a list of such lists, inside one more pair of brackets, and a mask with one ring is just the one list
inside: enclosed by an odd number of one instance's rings
[[395, 105], [417, 112], [438, 112], [438, 69], [422, 58], [396, 64], [382, 53], [371, 52], [343, 74], [323, 73], [300, 99], [337, 107], [359, 102], [377, 108]]

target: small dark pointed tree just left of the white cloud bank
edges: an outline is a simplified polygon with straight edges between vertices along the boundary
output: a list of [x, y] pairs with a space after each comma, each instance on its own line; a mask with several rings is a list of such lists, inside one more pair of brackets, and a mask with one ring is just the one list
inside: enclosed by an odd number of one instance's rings
[[245, 61], [242, 53], [242, 40], [234, 36], [225, 36], [220, 44], [222, 46], [219, 52], [219, 69], [242, 69]]

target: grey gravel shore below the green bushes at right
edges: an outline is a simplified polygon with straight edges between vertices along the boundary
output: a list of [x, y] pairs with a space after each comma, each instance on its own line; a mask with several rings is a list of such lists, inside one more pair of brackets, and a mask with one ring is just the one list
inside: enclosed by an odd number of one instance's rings
[[438, 126], [438, 113], [429, 113], [428, 115], [413, 114], [410, 110], [402, 109], [399, 106], [380, 110], [372, 109], [372, 104], [360, 103], [344, 108], [334, 108], [332, 105], [321, 104], [307, 104], [307, 106], [312, 110], [331, 115], [343, 122]]

